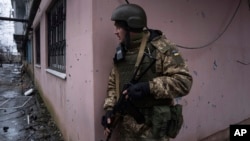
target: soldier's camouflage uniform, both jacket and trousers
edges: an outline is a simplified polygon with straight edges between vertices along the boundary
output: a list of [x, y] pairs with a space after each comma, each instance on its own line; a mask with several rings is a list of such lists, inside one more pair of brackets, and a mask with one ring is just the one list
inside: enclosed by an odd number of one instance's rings
[[[136, 58], [138, 48], [137, 50], [134, 48], [133, 51], [129, 50], [126, 57]], [[150, 39], [145, 52], [149, 53], [148, 50], [152, 51], [150, 53], [156, 58], [156, 63], [140, 81], [149, 82], [151, 95], [138, 104], [135, 103], [144, 114], [146, 122], [137, 124], [133, 117], [125, 115], [120, 124], [120, 136], [121, 140], [124, 141], [167, 141], [167, 136], [154, 138], [152, 135], [152, 126], [150, 125], [154, 116], [152, 109], [161, 100], [165, 102], [165, 105], [173, 104], [173, 98], [185, 96], [191, 89], [192, 76], [189, 74], [183, 58], [173, 43], [160, 34]], [[132, 59], [134, 63], [131, 66], [134, 66], [135, 61], [136, 59]], [[128, 64], [121, 69], [119, 67], [122, 66], [115, 64], [109, 75], [107, 97], [104, 102], [105, 110], [113, 108], [118, 100], [118, 91], [126, 83], [125, 81], [128, 82], [126, 78], [131, 78], [131, 73], [129, 74], [128, 71], [133, 72]], [[117, 75], [119, 75], [119, 84], [116, 84]]]

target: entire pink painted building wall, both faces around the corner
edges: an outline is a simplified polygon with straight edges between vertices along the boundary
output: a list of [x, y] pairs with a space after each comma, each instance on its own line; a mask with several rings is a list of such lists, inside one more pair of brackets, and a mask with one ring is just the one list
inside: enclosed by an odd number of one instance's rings
[[[148, 27], [161, 29], [178, 45], [199, 47], [215, 39], [228, 24], [239, 1], [130, 0], [144, 7]], [[41, 65], [34, 68], [37, 85], [68, 141], [104, 139], [100, 118], [107, 77], [118, 41], [112, 11], [123, 0], [67, 1], [66, 80], [46, 72], [46, 14], [43, 0], [33, 26], [41, 25]], [[202, 49], [180, 49], [194, 84], [177, 99], [185, 123], [175, 141], [198, 141], [250, 117], [250, 11], [247, 0], [225, 33]], [[245, 63], [245, 64], [244, 64]]]

